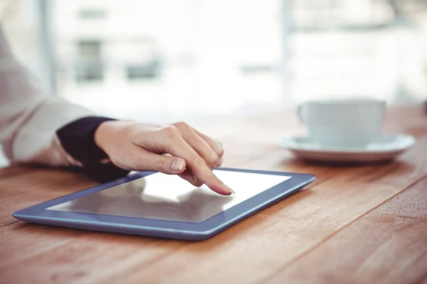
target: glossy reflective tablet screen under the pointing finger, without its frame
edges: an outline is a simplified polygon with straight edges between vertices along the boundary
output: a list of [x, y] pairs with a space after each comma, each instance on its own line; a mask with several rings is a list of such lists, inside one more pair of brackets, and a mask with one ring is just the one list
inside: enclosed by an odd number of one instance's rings
[[194, 187], [177, 175], [154, 173], [46, 209], [200, 223], [290, 177], [214, 170], [235, 195]]

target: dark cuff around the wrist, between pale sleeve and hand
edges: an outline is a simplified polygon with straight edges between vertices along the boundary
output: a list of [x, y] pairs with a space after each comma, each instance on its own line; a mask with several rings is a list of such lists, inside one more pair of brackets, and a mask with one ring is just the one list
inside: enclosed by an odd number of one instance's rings
[[75, 160], [83, 163], [83, 169], [90, 178], [99, 182], [107, 182], [122, 178], [129, 170], [118, 168], [113, 163], [102, 164], [100, 160], [108, 158], [95, 143], [95, 131], [104, 121], [111, 121], [102, 116], [87, 116], [63, 126], [56, 131], [56, 135], [65, 151]]

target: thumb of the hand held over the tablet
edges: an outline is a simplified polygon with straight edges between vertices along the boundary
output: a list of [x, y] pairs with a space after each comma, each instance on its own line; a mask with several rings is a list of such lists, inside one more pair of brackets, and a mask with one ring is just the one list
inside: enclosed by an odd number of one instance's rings
[[184, 173], [186, 163], [183, 158], [147, 153], [140, 166], [146, 170], [154, 170], [166, 174]]

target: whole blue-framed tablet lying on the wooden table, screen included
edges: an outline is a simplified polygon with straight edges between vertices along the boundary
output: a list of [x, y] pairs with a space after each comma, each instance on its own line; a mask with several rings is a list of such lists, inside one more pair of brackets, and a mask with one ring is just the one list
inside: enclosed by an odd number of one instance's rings
[[202, 240], [315, 180], [314, 175], [216, 168], [236, 194], [177, 175], [140, 172], [15, 212], [16, 219], [78, 229]]

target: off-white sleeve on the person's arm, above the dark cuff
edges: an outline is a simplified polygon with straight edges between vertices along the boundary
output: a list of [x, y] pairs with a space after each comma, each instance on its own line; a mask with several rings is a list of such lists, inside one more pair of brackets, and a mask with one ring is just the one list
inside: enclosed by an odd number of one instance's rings
[[0, 26], [0, 144], [11, 163], [80, 165], [66, 153], [56, 131], [93, 112], [41, 92], [16, 61]]

